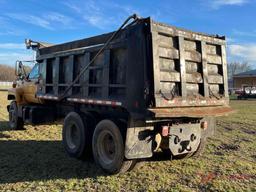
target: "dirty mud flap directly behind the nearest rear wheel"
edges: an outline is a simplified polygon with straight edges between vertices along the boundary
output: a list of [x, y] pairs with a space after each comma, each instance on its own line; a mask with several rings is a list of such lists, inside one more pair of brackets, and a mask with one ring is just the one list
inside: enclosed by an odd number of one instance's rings
[[153, 129], [154, 127], [145, 126], [143, 122], [130, 122], [125, 142], [125, 157], [127, 159], [152, 157]]

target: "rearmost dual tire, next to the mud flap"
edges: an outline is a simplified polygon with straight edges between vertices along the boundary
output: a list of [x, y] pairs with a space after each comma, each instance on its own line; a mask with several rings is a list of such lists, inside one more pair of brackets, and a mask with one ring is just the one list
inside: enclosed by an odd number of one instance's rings
[[107, 173], [124, 173], [136, 164], [135, 160], [125, 160], [122, 134], [110, 120], [102, 120], [97, 124], [92, 149], [95, 162]]

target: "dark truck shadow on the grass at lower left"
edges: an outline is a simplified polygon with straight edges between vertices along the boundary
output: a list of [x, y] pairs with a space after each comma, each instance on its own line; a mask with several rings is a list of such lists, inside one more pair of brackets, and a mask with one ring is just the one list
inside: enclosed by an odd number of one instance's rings
[[0, 141], [0, 184], [99, 175], [92, 159], [68, 157], [61, 141]]

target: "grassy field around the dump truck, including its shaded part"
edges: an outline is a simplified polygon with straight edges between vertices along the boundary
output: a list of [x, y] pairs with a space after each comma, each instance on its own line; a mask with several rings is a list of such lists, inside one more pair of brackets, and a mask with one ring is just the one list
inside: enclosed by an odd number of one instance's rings
[[93, 160], [70, 158], [61, 126], [8, 128], [0, 92], [0, 191], [255, 191], [256, 101], [231, 101], [202, 157], [153, 157], [128, 173], [106, 175]]

